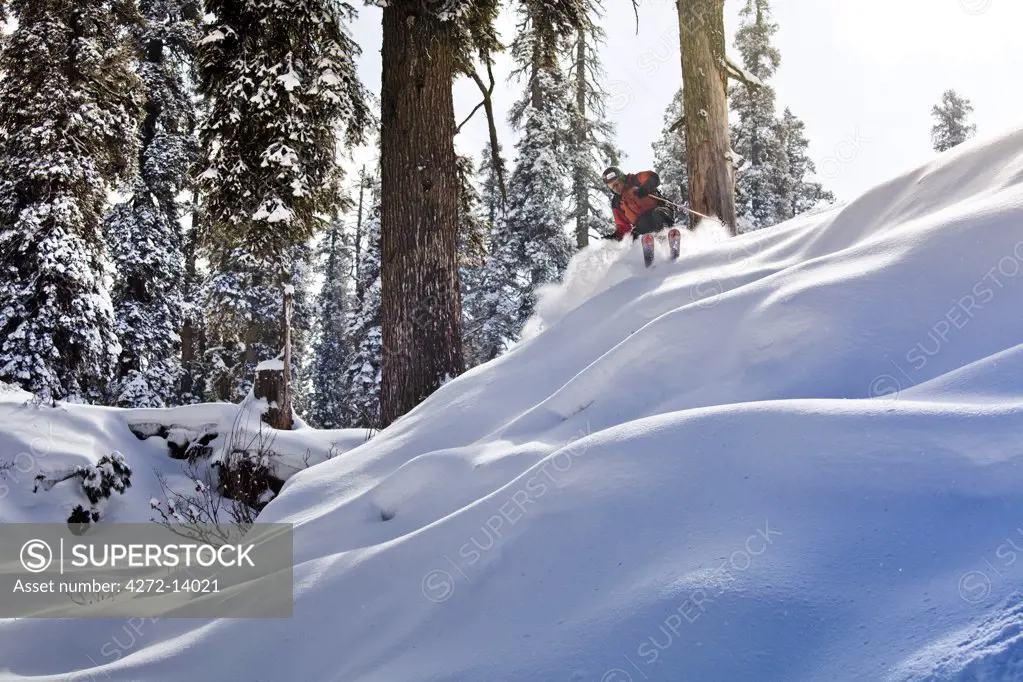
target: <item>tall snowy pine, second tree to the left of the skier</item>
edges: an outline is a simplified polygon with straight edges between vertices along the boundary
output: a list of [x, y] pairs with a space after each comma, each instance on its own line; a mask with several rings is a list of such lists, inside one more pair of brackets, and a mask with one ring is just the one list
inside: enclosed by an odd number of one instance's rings
[[572, 130], [567, 79], [559, 61], [564, 41], [553, 30], [555, 9], [541, 2], [525, 3], [511, 45], [515, 73], [525, 77], [526, 87], [510, 112], [522, 136], [516, 144], [503, 232], [508, 245], [519, 249], [511, 258], [517, 256], [519, 267], [528, 272], [530, 290], [518, 311], [520, 328], [533, 314], [536, 288], [561, 279], [573, 252], [565, 231], [570, 219], [567, 180], [572, 168], [567, 150]]

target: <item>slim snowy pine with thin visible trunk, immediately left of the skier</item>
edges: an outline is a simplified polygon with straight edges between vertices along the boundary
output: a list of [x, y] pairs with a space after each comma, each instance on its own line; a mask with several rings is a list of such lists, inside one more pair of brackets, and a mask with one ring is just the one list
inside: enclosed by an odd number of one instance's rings
[[611, 213], [601, 173], [608, 166], [617, 166], [621, 155], [613, 141], [614, 125], [607, 119], [607, 92], [599, 85], [604, 69], [598, 54], [605, 40], [604, 30], [594, 21], [599, 16], [599, 4], [591, 3], [585, 26], [573, 39], [575, 61], [569, 77], [574, 97], [568, 138], [572, 164], [570, 213], [575, 218], [578, 248], [589, 244], [591, 231], [603, 234], [608, 229]]

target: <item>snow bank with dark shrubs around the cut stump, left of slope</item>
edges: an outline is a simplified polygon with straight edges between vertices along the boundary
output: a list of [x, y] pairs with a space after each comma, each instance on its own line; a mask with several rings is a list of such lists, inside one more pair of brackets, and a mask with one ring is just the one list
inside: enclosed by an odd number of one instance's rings
[[[255, 450], [262, 444], [271, 472], [286, 481], [366, 440], [362, 429], [271, 433], [261, 426], [257, 408], [257, 402], [133, 410], [53, 406], [24, 391], [0, 391], [0, 524], [59, 522], [78, 505], [89, 508], [75, 482], [37, 486], [36, 479], [59, 479], [114, 453], [131, 468], [132, 485], [102, 502], [101, 522], [146, 522], [153, 498], [191, 490], [195, 483], [186, 473], [204, 473], [205, 464], [221, 461], [234, 448]], [[173, 459], [169, 450], [174, 446], [183, 453], [189, 443], [209, 448], [194, 471], [180, 459], [183, 454]]]

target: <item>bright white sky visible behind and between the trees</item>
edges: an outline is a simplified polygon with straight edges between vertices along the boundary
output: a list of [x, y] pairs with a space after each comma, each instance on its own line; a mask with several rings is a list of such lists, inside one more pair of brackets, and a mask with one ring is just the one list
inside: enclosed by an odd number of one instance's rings
[[[725, 0], [731, 37], [745, 0]], [[660, 135], [664, 109], [681, 84], [674, 0], [641, 0], [639, 32], [629, 0], [605, 0], [608, 42], [602, 53], [611, 93], [611, 118], [625, 151], [626, 171], [650, 168], [651, 142]], [[774, 0], [774, 38], [782, 66], [770, 82], [779, 111], [792, 108], [806, 123], [818, 179], [840, 199], [934, 155], [931, 107], [954, 88], [975, 107], [978, 134], [1023, 127], [1023, 0]], [[505, 43], [514, 17], [501, 18]], [[362, 7], [353, 27], [362, 46], [363, 82], [380, 92], [381, 10]], [[521, 85], [507, 82], [508, 59], [499, 57], [495, 93], [506, 155], [516, 135], [506, 111]], [[479, 101], [476, 86], [455, 85], [455, 111], [464, 117]], [[463, 129], [458, 149], [479, 157], [486, 140], [479, 120]], [[358, 158], [371, 154], [362, 151]]]

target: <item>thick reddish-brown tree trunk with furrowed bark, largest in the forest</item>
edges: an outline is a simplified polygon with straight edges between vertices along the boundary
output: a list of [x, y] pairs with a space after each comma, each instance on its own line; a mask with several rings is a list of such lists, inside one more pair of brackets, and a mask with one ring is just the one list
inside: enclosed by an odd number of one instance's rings
[[[429, 6], [429, 3], [428, 3]], [[417, 0], [384, 9], [381, 423], [464, 371], [450, 25]]]

